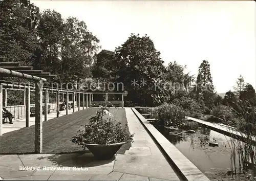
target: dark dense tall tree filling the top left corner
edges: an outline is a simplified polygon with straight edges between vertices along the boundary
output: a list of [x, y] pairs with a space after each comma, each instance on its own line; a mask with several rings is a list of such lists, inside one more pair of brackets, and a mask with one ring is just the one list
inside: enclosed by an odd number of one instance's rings
[[37, 47], [39, 8], [29, 0], [3, 0], [0, 9], [0, 56], [26, 64]]

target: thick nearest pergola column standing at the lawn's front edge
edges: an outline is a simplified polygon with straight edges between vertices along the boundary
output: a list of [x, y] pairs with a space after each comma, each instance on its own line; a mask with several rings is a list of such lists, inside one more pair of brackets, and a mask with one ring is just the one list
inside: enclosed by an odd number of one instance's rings
[[42, 81], [35, 82], [35, 153], [42, 153]]

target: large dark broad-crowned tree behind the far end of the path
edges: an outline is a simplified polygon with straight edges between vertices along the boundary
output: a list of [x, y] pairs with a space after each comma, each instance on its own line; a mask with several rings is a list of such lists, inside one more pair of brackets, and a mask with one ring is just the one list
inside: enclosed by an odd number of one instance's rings
[[[123, 82], [128, 91], [126, 99], [140, 105], [152, 106], [159, 89], [155, 81], [163, 80], [165, 67], [152, 39], [145, 35], [131, 36], [115, 50], [117, 58], [117, 82]], [[137, 81], [134, 82], [133, 81]], [[143, 82], [146, 84], [143, 84]]]

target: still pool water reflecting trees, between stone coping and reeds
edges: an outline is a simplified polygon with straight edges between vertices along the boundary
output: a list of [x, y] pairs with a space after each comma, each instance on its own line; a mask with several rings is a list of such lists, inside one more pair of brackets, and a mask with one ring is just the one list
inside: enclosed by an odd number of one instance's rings
[[[169, 134], [164, 128], [155, 127], [209, 179], [219, 176], [220, 180], [229, 180], [227, 178], [230, 178], [230, 175], [226, 174], [231, 170], [229, 137], [205, 127], [199, 128], [196, 133], [181, 131], [181, 135]], [[211, 147], [209, 142], [219, 143], [219, 146]], [[246, 180], [246, 177], [241, 175], [240, 179]]]

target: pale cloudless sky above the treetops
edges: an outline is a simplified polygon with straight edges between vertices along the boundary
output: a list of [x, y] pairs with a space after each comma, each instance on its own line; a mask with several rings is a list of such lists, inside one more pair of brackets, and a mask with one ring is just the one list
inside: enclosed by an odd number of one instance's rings
[[150, 36], [164, 64], [177, 61], [197, 76], [208, 60], [218, 93], [233, 89], [241, 74], [256, 86], [254, 1], [39, 1], [62, 18], [86, 22], [102, 49], [114, 51], [131, 33]]

